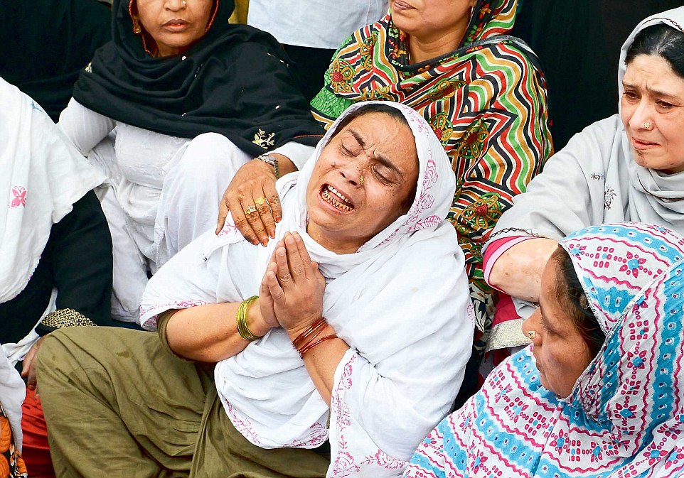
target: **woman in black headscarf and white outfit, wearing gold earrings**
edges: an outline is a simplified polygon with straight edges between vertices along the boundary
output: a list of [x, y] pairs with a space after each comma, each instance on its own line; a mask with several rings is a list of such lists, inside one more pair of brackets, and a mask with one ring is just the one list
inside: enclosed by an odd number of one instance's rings
[[[288, 157], [321, 134], [282, 48], [229, 24], [233, 8], [232, 0], [114, 0], [113, 40], [60, 116], [109, 177], [103, 209], [121, 320], [137, 319], [149, 274], [213, 227], [235, 169], [277, 149], [264, 168], [287, 170]], [[269, 207], [276, 198], [260, 199]]]

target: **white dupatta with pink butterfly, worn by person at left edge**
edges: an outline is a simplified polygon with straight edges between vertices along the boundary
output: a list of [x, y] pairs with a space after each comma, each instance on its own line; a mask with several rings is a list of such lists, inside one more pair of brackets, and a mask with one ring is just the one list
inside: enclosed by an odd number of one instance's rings
[[[1, 78], [0, 104], [0, 303], [4, 303], [26, 288], [53, 224], [104, 176], [69, 145], [36, 102]], [[0, 353], [0, 403], [20, 451], [26, 387], [14, 364], [30, 347], [33, 335], [20, 343], [23, 347], [8, 344], [9, 349], [2, 347]]]

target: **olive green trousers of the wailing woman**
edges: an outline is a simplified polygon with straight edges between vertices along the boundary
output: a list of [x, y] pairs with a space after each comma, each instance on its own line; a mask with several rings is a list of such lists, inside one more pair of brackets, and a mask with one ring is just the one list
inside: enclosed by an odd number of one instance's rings
[[58, 477], [325, 477], [314, 450], [264, 450], [235, 430], [212, 376], [159, 337], [73, 327], [46, 337], [38, 389]]

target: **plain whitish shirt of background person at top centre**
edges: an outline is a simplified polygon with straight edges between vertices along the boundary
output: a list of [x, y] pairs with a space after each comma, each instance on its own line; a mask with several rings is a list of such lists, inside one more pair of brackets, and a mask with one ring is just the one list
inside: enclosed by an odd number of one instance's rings
[[336, 50], [359, 28], [380, 20], [388, 0], [251, 0], [247, 23], [285, 45]]

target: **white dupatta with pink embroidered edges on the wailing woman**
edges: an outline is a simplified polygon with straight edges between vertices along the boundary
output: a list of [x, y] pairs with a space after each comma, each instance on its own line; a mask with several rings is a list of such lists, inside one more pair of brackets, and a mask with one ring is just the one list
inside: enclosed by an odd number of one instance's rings
[[[334, 254], [306, 234], [306, 185], [333, 124], [301, 173], [277, 183], [284, 217], [276, 239], [298, 232], [326, 277], [324, 316], [351, 349], [337, 367], [331, 409], [316, 391], [287, 333], [274, 329], [219, 362], [225, 411], [260, 447], [331, 443], [328, 477], [399, 476], [418, 442], [451, 407], [469, 359], [474, 325], [464, 257], [446, 217], [455, 180], [432, 129], [409, 107], [420, 160], [409, 212], [355, 254]], [[172, 308], [257, 295], [275, 247], [252, 246], [232, 219], [208, 232], [151, 278], [141, 323]], [[329, 416], [329, 432], [328, 432]]]

